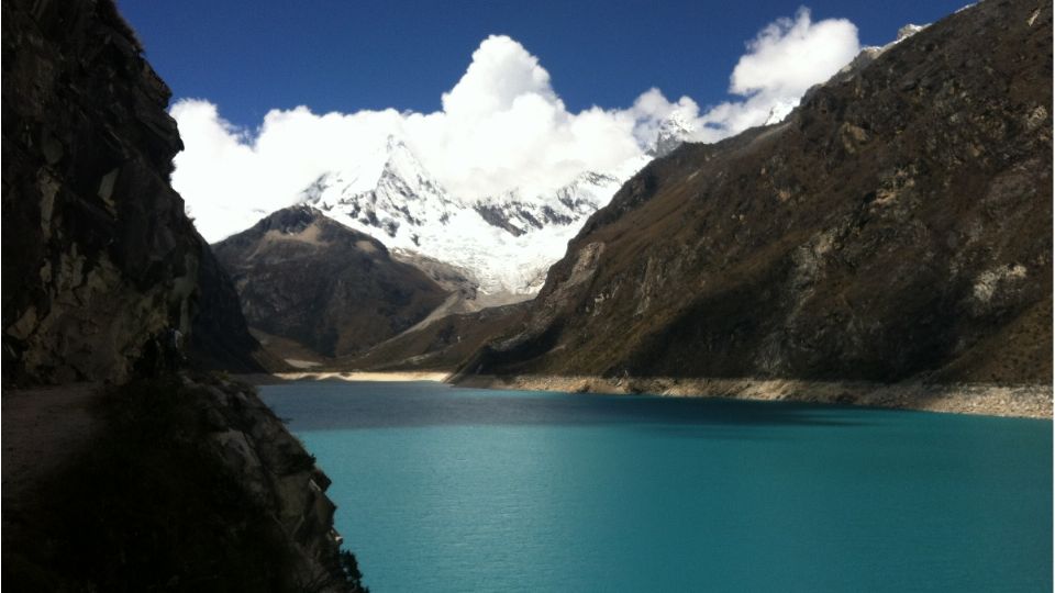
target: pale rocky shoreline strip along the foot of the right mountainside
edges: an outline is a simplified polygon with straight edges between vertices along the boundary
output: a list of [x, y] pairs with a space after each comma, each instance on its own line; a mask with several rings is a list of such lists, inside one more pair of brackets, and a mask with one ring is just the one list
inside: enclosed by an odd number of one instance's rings
[[651, 393], [681, 398], [793, 401], [922, 410], [956, 414], [1052, 419], [1052, 385], [986, 383], [895, 384], [759, 379], [677, 379], [666, 377], [515, 376], [463, 377], [463, 387], [566, 391], [573, 393]]

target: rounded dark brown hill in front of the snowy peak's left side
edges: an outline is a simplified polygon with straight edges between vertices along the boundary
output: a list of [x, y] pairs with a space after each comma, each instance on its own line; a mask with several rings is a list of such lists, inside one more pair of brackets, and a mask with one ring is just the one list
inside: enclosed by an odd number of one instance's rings
[[251, 326], [327, 357], [407, 329], [447, 296], [377, 239], [309, 206], [280, 210], [213, 250]]

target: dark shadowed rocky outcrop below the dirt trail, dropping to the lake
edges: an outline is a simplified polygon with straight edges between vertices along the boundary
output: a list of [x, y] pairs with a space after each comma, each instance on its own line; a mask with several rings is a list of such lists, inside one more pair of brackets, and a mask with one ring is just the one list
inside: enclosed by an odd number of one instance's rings
[[360, 591], [333, 530], [330, 480], [253, 388], [173, 376], [91, 407], [93, 436], [57, 471], [15, 500], [4, 473], [5, 585]]

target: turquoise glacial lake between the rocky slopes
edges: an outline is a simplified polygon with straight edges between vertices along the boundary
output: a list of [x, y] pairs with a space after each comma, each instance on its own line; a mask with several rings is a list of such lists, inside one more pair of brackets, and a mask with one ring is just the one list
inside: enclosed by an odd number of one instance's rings
[[437, 383], [260, 389], [374, 593], [1051, 591], [1052, 423]]

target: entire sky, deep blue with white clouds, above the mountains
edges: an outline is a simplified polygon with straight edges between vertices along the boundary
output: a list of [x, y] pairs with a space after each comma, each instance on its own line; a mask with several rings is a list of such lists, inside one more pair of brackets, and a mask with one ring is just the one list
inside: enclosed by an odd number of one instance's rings
[[173, 187], [216, 240], [321, 176], [375, 175], [390, 138], [464, 203], [625, 179], [660, 130], [779, 122], [862, 46], [962, 1], [119, 3], [174, 92]]

